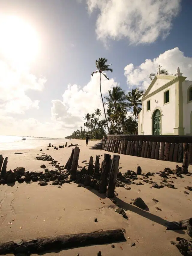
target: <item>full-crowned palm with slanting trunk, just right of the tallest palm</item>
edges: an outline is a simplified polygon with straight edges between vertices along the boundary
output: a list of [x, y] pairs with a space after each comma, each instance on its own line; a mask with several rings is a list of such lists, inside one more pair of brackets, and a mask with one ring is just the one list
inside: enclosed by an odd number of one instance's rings
[[116, 86], [113, 87], [113, 90], [109, 91], [109, 96], [104, 97], [107, 100], [108, 105], [112, 105], [115, 108], [115, 112], [119, 121], [119, 124], [122, 126], [122, 131], [124, 132], [124, 127], [122, 120], [119, 116], [119, 112], [117, 110], [118, 104], [126, 105], [126, 97], [125, 92], [122, 90], [121, 87]]

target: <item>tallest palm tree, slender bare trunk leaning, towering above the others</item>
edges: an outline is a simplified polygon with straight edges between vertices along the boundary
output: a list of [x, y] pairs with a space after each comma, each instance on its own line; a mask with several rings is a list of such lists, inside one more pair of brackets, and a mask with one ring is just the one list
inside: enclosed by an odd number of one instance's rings
[[[107, 59], [105, 59], [105, 58], [99, 58], [98, 60], [95, 61], [95, 65], [96, 65], [96, 67], [97, 67], [97, 70], [91, 73], [91, 76], [93, 76], [93, 74], [96, 74], [96, 73], [98, 73], [98, 72], [99, 72], [99, 74], [100, 74], [100, 92], [101, 92], [101, 74], [103, 74], [104, 77], [107, 78], [107, 80], [109, 80], [109, 78], [108, 78], [108, 77], [106, 76], [106, 74], [104, 74], [103, 72], [105, 72], [105, 71], [113, 72], [113, 69], [112, 69], [112, 68], [109, 68], [109, 66], [110, 66], [111, 64], [110, 64], [110, 65], [107, 65], [106, 63], [107, 63]], [[105, 113], [105, 107], [104, 107], [102, 92], [101, 92], [101, 99], [102, 99], [102, 103], [103, 103], [103, 109], [104, 109], [105, 119], [106, 119], [106, 122], [107, 122], [107, 116], [106, 116], [106, 113]], [[108, 122], [107, 122], [107, 129], [108, 129], [108, 133], [110, 134]]]

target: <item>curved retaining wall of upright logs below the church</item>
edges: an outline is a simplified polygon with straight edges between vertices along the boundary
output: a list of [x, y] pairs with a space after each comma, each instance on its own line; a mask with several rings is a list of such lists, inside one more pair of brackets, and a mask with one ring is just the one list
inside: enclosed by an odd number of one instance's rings
[[107, 135], [103, 149], [109, 152], [164, 161], [182, 162], [189, 151], [192, 163], [192, 136], [172, 135]]

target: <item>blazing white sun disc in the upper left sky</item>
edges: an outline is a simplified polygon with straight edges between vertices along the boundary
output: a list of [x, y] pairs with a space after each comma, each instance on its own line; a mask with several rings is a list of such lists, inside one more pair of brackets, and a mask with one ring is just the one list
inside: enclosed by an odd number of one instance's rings
[[39, 40], [35, 30], [15, 16], [0, 16], [0, 52], [16, 65], [29, 65], [37, 56]]

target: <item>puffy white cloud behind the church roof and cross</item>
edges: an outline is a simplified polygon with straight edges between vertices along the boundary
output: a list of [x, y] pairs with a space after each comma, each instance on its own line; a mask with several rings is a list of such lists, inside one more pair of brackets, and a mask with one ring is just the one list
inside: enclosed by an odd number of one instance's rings
[[192, 58], [184, 56], [184, 53], [176, 47], [165, 51], [153, 60], [146, 59], [139, 67], [134, 67], [132, 63], [127, 65], [124, 75], [129, 89], [134, 87], [147, 89], [151, 82], [149, 74], [157, 73], [159, 65], [170, 74], [176, 74], [179, 66], [183, 76], [187, 77], [187, 80], [192, 80]]

